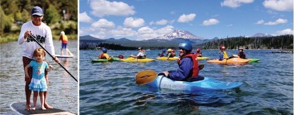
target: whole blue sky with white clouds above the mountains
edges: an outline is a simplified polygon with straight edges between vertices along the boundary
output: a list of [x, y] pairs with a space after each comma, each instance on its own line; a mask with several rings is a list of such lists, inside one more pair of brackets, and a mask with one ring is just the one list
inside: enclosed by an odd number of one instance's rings
[[147, 40], [293, 34], [293, 0], [79, 0], [79, 36]]

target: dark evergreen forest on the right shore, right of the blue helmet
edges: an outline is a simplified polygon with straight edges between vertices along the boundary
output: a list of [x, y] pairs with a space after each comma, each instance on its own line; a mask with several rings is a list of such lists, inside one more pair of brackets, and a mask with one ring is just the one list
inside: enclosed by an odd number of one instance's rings
[[293, 49], [293, 35], [281, 35], [273, 37], [233, 37], [214, 40], [199, 45], [202, 49], [219, 49], [221, 45], [227, 49]]

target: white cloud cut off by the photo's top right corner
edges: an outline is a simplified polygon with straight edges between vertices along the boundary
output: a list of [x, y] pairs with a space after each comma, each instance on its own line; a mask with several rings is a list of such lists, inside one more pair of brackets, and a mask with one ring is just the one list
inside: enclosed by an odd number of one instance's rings
[[293, 0], [265, 0], [262, 4], [277, 11], [293, 11]]

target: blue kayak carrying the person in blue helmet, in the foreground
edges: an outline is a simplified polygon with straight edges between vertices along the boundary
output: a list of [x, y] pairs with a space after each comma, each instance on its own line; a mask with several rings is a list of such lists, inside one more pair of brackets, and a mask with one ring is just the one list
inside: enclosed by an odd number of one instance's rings
[[147, 83], [146, 85], [159, 89], [165, 88], [171, 90], [195, 92], [234, 89], [243, 85], [243, 82], [222, 82], [209, 77], [204, 77], [204, 79], [200, 81], [184, 82], [174, 81], [164, 77], [163, 75], [158, 75], [154, 81]]

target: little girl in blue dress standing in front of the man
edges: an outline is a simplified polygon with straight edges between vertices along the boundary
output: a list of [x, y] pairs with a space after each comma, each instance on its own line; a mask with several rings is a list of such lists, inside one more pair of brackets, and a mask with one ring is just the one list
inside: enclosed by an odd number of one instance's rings
[[49, 72], [52, 69], [52, 66], [47, 64], [47, 62], [43, 61], [45, 58], [45, 51], [42, 48], [35, 49], [33, 53], [33, 57], [35, 57], [36, 60], [33, 60], [25, 67], [25, 77], [26, 79], [29, 78], [27, 69], [32, 67], [33, 69], [33, 77], [31, 79], [31, 83], [28, 85], [29, 90], [32, 90], [34, 92], [33, 102], [34, 107], [30, 108], [30, 110], [35, 110], [37, 106], [37, 98], [38, 98], [38, 92], [41, 99], [41, 107], [42, 110], [46, 110], [44, 107], [44, 92], [47, 91], [47, 82], [45, 79], [45, 69]]

